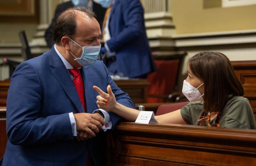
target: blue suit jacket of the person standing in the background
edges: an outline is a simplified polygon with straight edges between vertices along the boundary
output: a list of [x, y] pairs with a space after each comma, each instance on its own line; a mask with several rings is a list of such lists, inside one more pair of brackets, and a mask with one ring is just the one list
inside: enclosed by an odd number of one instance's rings
[[118, 72], [132, 78], [156, 70], [139, 0], [115, 1], [109, 17], [109, 32], [111, 39], [107, 45], [111, 52], [116, 52]]

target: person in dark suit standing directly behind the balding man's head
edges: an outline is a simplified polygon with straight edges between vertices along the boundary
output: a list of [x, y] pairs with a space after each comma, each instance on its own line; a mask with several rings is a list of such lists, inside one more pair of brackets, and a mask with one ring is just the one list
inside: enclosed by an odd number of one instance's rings
[[68, 2], [64, 2], [62, 4], [59, 4], [55, 10], [54, 18], [52, 19], [51, 25], [47, 28], [44, 34], [45, 41], [47, 43], [47, 46], [49, 48], [52, 48], [54, 45], [53, 39], [52, 39], [52, 31], [53, 26], [56, 22], [56, 19], [58, 18], [59, 14], [63, 11], [67, 10], [70, 7], [74, 6], [86, 6], [88, 9], [93, 11], [96, 14], [96, 19], [100, 24], [100, 27], [102, 26], [104, 15], [106, 12], [106, 8], [102, 8], [99, 4], [94, 3], [92, 0], [72, 0]]

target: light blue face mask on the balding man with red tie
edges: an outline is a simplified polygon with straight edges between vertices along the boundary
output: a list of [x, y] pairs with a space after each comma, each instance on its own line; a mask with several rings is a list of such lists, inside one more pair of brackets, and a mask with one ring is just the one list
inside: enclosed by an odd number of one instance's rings
[[[70, 38], [69, 38], [70, 39]], [[72, 39], [70, 39], [72, 40]], [[74, 40], [72, 40], [74, 43], [76, 43]], [[77, 44], [77, 43], [76, 43]], [[79, 44], [77, 44], [80, 46]], [[81, 46], [80, 46], [81, 47]], [[76, 58], [70, 51], [70, 54], [72, 54], [76, 60], [81, 66], [87, 66], [95, 63], [98, 59], [98, 55], [100, 54], [100, 46], [84, 46], [83, 53], [80, 58]]]

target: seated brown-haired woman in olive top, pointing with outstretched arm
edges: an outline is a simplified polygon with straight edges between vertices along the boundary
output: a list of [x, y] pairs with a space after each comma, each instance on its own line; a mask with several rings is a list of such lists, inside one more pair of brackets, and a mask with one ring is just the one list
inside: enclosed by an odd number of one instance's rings
[[[135, 121], [139, 111], [116, 102], [110, 85], [108, 94], [93, 88], [99, 108]], [[188, 61], [183, 94], [191, 102], [180, 110], [156, 116], [159, 123], [256, 129], [252, 107], [228, 58], [217, 52], [202, 52]]]

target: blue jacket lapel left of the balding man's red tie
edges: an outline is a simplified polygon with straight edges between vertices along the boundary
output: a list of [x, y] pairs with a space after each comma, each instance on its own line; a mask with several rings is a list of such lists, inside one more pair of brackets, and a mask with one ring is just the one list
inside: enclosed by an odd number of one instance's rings
[[60, 86], [67, 93], [71, 101], [74, 103], [77, 110], [79, 112], [84, 112], [83, 105], [79, 99], [74, 83], [71, 80], [68, 74], [68, 70], [66, 69], [65, 65], [61, 61], [59, 55], [54, 50], [54, 47], [52, 47], [52, 49], [49, 51], [49, 68], [52, 74], [60, 83]]

